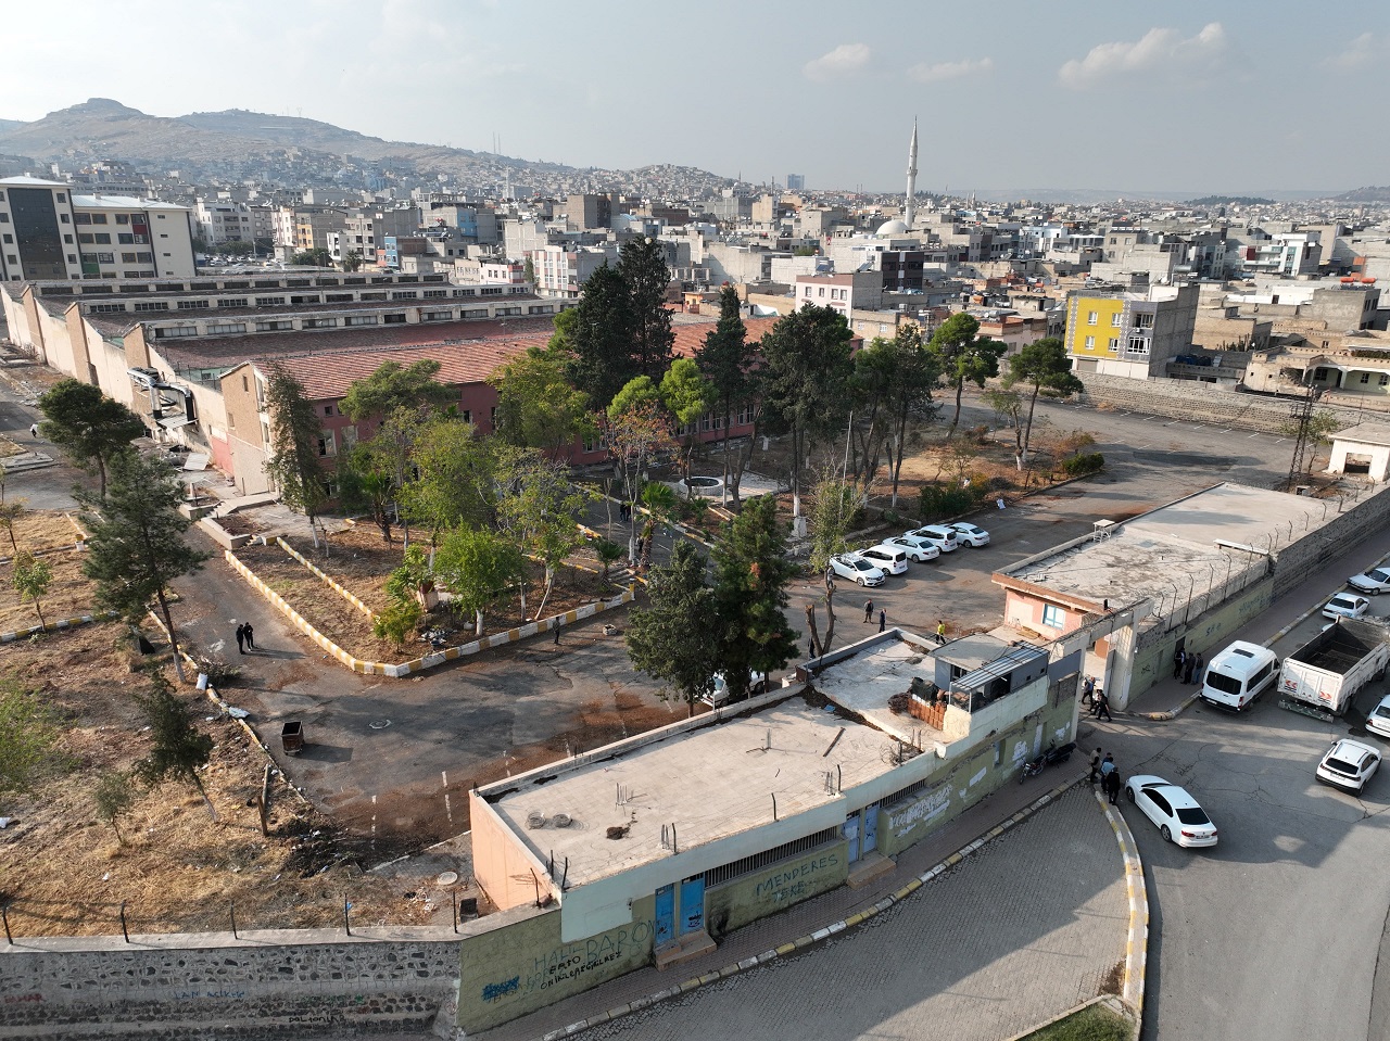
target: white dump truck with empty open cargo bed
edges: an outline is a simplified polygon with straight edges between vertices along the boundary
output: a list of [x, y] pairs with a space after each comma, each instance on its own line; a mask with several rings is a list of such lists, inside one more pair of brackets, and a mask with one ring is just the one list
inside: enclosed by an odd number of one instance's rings
[[1387, 663], [1390, 628], [1379, 620], [1337, 618], [1284, 659], [1279, 705], [1315, 719], [1341, 716]]

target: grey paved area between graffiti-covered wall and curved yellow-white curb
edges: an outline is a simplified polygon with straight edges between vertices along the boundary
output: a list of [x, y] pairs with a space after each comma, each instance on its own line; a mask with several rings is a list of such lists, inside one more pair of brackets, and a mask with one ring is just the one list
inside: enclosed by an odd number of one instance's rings
[[[706, 959], [642, 969], [478, 1037], [531, 1041], [842, 920], [1074, 777], [1006, 785], [873, 887], [835, 890], [726, 937]], [[869, 924], [589, 1035], [1001, 1041], [1095, 997], [1125, 959], [1127, 930], [1115, 837], [1080, 784]]]

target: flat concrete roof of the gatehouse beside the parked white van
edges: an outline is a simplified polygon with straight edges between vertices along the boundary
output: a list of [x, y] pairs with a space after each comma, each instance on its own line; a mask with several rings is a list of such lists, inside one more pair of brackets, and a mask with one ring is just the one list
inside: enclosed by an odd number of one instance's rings
[[[1029, 557], [999, 575], [1097, 606], [1109, 600], [1111, 607], [1122, 607], [1145, 598], [1170, 606], [1240, 588], [1265, 573], [1264, 553], [1336, 516], [1332, 500], [1222, 484], [1122, 521], [1108, 536]], [[1259, 552], [1219, 546], [1216, 539]]]

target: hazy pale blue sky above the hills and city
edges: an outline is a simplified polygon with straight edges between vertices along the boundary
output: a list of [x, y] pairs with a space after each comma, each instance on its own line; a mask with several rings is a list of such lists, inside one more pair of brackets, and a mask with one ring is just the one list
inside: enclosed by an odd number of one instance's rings
[[252, 108], [575, 167], [902, 190], [1390, 183], [1383, 0], [15, 4], [0, 118]]

